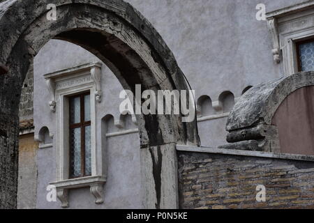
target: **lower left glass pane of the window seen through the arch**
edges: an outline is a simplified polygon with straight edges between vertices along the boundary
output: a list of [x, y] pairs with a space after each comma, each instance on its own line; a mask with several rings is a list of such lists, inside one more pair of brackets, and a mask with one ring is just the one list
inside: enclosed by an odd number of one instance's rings
[[81, 128], [70, 130], [70, 176], [81, 176]]

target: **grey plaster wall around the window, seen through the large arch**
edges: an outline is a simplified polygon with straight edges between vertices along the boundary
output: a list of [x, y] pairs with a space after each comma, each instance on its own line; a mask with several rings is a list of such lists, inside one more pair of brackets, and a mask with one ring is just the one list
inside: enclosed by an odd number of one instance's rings
[[[82, 63], [99, 61], [86, 50], [61, 40], [51, 40], [40, 50], [34, 60], [34, 125], [36, 134], [47, 126], [52, 134], [56, 133], [57, 114], [50, 111], [50, 94], [45, 85], [44, 74], [73, 67]], [[96, 103], [96, 148], [105, 150], [107, 155], [107, 183], [104, 187], [105, 202], [94, 203], [89, 188], [70, 190], [70, 208], [142, 208], [140, 194], [140, 138], [138, 134], [110, 137], [102, 141], [105, 130], [101, 129], [102, 118], [112, 114], [119, 119], [119, 93], [121, 84], [105, 66], [102, 68], [103, 100]], [[136, 126], [126, 125], [127, 128]], [[121, 129], [121, 130], [126, 130]], [[117, 129], [115, 130], [117, 131]], [[56, 140], [54, 139], [54, 145]], [[56, 180], [56, 148], [38, 151], [38, 189], [37, 208], [60, 208], [59, 201], [48, 202], [47, 185]]]

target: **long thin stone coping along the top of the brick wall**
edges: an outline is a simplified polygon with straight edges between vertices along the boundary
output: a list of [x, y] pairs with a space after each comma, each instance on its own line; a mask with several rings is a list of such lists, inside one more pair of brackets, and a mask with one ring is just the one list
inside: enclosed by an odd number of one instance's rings
[[302, 161], [314, 162], [314, 155], [269, 153], [269, 152], [260, 152], [260, 151], [240, 151], [240, 150], [224, 149], [224, 148], [209, 148], [209, 147], [196, 147], [196, 146], [185, 146], [185, 145], [177, 145], [177, 151], [195, 152], [195, 153], [213, 153], [213, 154], [224, 154], [224, 155], [241, 155], [241, 156], [251, 156], [251, 157], [264, 157], [264, 158], [274, 158], [274, 159], [283, 159], [283, 160], [302, 160]]

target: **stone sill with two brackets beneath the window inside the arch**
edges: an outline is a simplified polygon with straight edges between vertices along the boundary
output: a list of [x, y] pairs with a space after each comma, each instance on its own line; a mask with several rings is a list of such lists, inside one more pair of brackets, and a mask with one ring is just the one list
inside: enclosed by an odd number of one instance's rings
[[103, 185], [105, 185], [105, 182], [105, 176], [87, 176], [83, 178], [61, 180], [50, 183], [50, 185], [54, 185], [56, 187], [57, 197], [59, 201], [61, 201], [61, 207], [68, 208], [68, 190], [73, 188], [90, 187], [90, 192], [95, 198], [95, 203], [103, 203]]

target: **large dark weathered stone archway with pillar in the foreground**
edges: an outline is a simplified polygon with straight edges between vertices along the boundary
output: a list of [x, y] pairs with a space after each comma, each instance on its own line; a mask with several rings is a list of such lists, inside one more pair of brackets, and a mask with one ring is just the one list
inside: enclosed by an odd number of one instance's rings
[[[187, 90], [184, 75], [153, 26], [121, 0], [54, 0], [0, 3], [0, 208], [16, 207], [18, 104], [29, 64], [48, 40], [75, 43], [94, 53], [124, 89]], [[117, 95], [118, 96], [118, 95]], [[196, 119], [181, 115], [137, 116], [144, 207], [177, 208], [176, 144], [198, 144]]]

